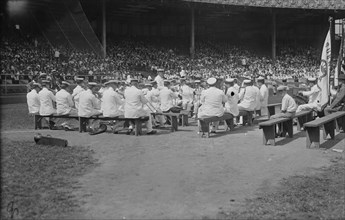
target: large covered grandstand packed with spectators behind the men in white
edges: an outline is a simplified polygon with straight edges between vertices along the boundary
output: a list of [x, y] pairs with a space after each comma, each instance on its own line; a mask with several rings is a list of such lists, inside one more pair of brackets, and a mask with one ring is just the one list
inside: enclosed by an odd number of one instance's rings
[[[246, 76], [270, 74], [276, 79], [305, 77], [317, 71], [329, 17], [333, 18], [332, 52], [337, 55], [335, 21], [345, 17], [341, 0], [9, 0], [2, 4], [1, 47], [6, 47], [5, 38], [18, 35], [17, 40], [27, 41], [25, 47], [32, 47], [34, 41], [44, 45], [38, 53], [45, 55], [36, 57], [39, 68], [29, 68], [18, 59], [13, 70], [10, 57], [15, 54], [2, 52], [9, 62], [2, 59], [2, 94], [25, 93], [23, 84], [35, 74], [53, 70], [70, 79], [91, 73], [99, 81], [105, 75], [153, 74], [157, 66], [167, 70], [168, 78], [181, 68], [195, 77], [243, 71]], [[57, 62], [53, 62], [55, 51], [61, 54]], [[84, 55], [74, 56], [74, 64], [62, 67], [78, 52]], [[101, 58], [105, 52], [106, 61]], [[150, 55], [157, 53], [161, 56]], [[75, 65], [85, 63], [85, 56], [92, 57], [95, 68]], [[242, 62], [248, 69], [238, 67]]]

